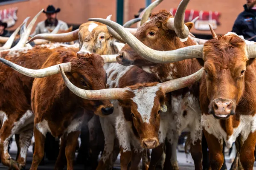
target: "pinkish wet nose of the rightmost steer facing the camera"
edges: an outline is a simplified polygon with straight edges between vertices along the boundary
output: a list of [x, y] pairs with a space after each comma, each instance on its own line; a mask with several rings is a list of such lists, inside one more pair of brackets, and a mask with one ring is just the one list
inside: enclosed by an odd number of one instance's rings
[[233, 102], [231, 100], [216, 99], [212, 102], [212, 108], [214, 110], [215, 116], [227, 117], [233, 109]]

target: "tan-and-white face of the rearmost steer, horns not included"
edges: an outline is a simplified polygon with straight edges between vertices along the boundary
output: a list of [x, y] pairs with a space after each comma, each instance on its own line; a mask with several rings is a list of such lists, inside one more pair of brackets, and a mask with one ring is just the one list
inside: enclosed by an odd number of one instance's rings
[[[94, 29], [93, 29], [94, 28]], [[97, 22], [87, 22], [79, 27], [81, 53], [89, 51], [96, 54], [116, 54], [115, 39], [109, 34], [107, 26]]]

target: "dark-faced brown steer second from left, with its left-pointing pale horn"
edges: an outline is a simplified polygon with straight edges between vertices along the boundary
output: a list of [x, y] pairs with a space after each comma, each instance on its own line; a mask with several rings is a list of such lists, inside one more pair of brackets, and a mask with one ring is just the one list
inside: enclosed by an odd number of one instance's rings
[[105, 116], [113, 112], [113, 105], [108, 100], [90, 100], [90, 96], [87, 99], [81, 99], [70, 92], [64, 85], [61, 75], [56, 74], [59, 72], [56, 64], [61, 63], [59, 65], [62, 65], [65, 71], [70, 72], [69, 77], [77, 86], [99, 90], [105, 88], [107, 81], [103, 65], [104, 62], [108, 62], [108, 57], [101, 57], [98, 54], [76, 56], [76, 53], [71, 51], [56, 51], [48, 57], [41, 70], [22, 68], [2, 58], [0, 61], [29, 77], [45, 77], [35, 79], [32, 86], [35, 151], [30, 169], [37, 169], [44, 156], [44, 139], [47, 132], [55, 138], [61, 137], [62, 139], [55, 168], [63, 168], [66, 154], [67, 169], [73, 169], [76, 139], [80, 134], [84, 109]]

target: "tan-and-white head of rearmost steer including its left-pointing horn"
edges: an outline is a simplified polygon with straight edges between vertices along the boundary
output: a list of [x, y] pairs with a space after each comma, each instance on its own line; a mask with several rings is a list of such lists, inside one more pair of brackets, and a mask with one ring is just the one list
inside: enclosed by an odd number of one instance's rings
[[54, 42], [79, 40], [79, 54], [97, 53], [100, 55], [117, 54], [116, 39], [109, 34], [107, 26], [97, 22], [87, 22], [79, 29], [64, 34], [37, 34], [29, 40], [44, 39]]

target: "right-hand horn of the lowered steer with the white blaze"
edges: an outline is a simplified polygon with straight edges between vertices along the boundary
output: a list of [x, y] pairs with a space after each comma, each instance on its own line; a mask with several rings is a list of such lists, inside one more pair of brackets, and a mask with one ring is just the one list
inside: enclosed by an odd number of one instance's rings
[[164, 93], [169, 93], [190, 86], [201, 79], [203, 71], [204, 68], [201, 68], [199, 71], [189, 76], [163, 82], [161, 83], [161, 88]]

